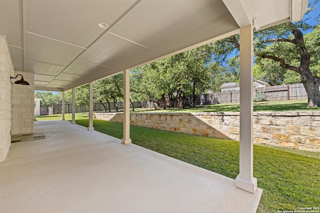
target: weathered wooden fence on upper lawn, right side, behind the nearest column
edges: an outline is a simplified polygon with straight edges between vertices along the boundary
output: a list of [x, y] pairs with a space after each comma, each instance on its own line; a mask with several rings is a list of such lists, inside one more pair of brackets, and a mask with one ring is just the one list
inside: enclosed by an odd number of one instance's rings
[[[307, 94], [302, 83], [290, 85], [278, 85], [257, 87], [253, 89], [253, 95], [257, 92], [264, 93], [268, 101], [306, 99]], [[222, 104], [237, 103], [240, 101], [240, 90], [227, 90], [198, 95], [196, 104]]]

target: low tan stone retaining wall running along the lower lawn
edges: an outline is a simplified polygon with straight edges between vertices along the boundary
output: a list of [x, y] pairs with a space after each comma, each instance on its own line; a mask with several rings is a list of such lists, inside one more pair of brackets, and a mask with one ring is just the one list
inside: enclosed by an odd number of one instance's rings
[[[239, 140], [238, 112], [131, 113], [133, 125]], [[122, 113], [93, 118], [122, 123]], [[320, 152], [320, 111], [254, 112], [254, 143]]]

